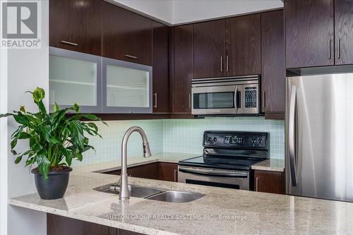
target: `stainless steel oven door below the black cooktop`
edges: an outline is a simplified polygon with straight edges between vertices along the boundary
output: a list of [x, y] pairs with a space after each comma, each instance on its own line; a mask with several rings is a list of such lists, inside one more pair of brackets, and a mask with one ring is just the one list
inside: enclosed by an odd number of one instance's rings
[[249, 171], [178, 167], [178, 182], [249, 190]]

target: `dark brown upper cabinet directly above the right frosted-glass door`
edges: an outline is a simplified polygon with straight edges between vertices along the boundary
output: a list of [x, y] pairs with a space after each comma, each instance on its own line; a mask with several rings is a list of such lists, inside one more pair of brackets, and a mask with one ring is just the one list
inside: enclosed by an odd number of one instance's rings
[[102, 2], [104, 57], [152, 65], [152, 20]]

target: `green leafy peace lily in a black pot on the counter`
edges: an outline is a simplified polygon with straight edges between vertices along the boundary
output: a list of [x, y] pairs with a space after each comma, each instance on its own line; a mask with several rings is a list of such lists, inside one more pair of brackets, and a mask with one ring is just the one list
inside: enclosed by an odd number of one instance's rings
[[[45, 92], [42, 88], [36, 88], [32, 94], [38, 112], [31, 113], [20, 107], [19, 111], [9, 114], [0, 114], [1, 117], [13, 116], [20, 124], [18, 129], [11, 135], [11, 152], [16, 156], [15, 163], [18, 164], [23, 158], [25, 167], [36, 164], [32, 169], [35, 175], [35, 186], [42, 199], [62, 198], [68, 185], [68, 176], [71, 169], [72, 159], [82, 161], [82, 153], [94, 150], [88, 145], [88, 135], [99, 135], [95, 123], [83, 122], [81, 119], [90, 121], [101, 121], [93, 114], [78, 114], [78, 104], [73, 107], [59, 109], [54, 104], [54, 112], [47, 113], [43, 99]], [[72, 115], [66, 115], [73, 112]], [[29, 150], [18, 153], [15, 147], [18, 140], [29, 140]]]

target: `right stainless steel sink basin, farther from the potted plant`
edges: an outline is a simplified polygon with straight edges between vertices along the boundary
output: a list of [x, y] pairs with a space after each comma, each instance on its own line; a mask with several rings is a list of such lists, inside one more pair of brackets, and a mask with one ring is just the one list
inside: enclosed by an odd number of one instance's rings
[[159, 200], [167, 203], [189, 203], [198, 198], [202, 198], [204, 195], [205, 194], [201, 194], [201, 193], [166, 191], [163, 193], [158, 193], [157, 195], [152, 195], [147, 199]]

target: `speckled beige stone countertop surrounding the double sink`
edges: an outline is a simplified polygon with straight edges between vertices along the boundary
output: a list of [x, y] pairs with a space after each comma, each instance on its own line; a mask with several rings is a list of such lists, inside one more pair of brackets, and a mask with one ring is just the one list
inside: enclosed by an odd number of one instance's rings
[[[193, 155], [164, 153], [154, 155], [152, 161], [169, 158], [177, 162], [178, 157]], [[64, 198], [41, 200], [32, 193], [8, 203], [143, 234], [353, 234], [353, 203], [332, 200], [130, 177], [129, 183], [134, 185], [205, 196], [190, 203], [132, 197], [128, 203], [120, 203], [118, 195], [92, 190], [119, 179], [92, 172], [119, 167], [115, 164], [76, 167]]]

